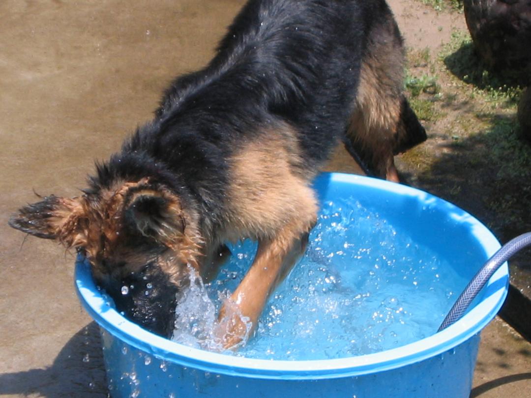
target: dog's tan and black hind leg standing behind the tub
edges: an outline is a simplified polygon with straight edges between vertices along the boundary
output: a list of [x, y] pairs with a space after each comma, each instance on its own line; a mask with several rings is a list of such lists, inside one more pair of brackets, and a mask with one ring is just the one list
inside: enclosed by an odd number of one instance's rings
[[405, 56], [389, 14], [369, 33], [345, 146], [367, 174], [398, 181], [394, 155], [426, 140], [402, 90]]

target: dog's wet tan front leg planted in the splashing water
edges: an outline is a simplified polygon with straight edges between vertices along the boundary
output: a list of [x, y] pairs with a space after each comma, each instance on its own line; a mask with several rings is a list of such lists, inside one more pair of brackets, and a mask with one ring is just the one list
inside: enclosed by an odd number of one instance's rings
[[308, 235], [286, 228], [273, 239], [259, 241], [250, 270], [219, 314], [225, 349], [236, 348], [252, 333], [269, 295], [304, 253]]

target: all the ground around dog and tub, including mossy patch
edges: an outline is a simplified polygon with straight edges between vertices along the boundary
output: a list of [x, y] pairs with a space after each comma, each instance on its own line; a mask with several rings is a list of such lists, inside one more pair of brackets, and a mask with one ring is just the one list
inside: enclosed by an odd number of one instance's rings
[[[73, 254], [24, 238], [7, 219], [34, 200], [33, 191], [78, 194], [93, 161], [151, 117], [169, 80], [209, 60], [243, 3], [0, 2], [0, 396], [106, 396], [97, 328], [73, 289]], [[531, 229], [527, 160], [491, 155], [483, 139], [501, 131], [492, 138], [500, 142], [514, 132], [513, 106], [506, 95], [478, 91], [467, 74], [449, 72], [452, 55], [466, 53], [455, 46], [466, 34], [463, 14], [419, 0], [390, 5], [430, 137], [397, 158], [403, 180], [476, 215], [501, 241]], [[527, 150], [517, 139], [507, 142]], [[504, 160], [514, 166], [507, 172]], [[359, 172], [342, 150], [328, 169]], [[528, 294], [526, 258], [511, 264], [511, 278]], [[482, 333], [471, 396], [531, 396], [530, 358], [531, 345], [496, 318]]]

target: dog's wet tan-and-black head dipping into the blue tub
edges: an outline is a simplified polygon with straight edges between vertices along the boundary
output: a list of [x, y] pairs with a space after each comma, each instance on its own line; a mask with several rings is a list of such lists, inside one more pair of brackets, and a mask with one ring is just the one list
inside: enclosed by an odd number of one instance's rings
[[196, 218], [179, 197], [148, 178], [83, 196], [47, 196], [10, 225], [81, 250], [116, 309], [160, 335], [173, 328], [176, 293], [198, 266]]

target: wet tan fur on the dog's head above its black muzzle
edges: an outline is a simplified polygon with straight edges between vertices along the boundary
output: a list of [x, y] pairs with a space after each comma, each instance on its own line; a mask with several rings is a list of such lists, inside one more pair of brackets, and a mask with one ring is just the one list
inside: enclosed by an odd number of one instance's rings
[[[124, 214], [140, 197], [164, 200], [164, 206], [153, 222], [143, 214], [136, 215], [136, 226], [146, 237], [168, 248], [160, 255], [137, 252], [127, 245]], [[110, 271], [115, 278], [140, 271], [157, 261], [170, 281], [179, 284], [183, 266], [190, 264], [199, 270], [203, 245], [198, 231], [198, 215], [181, 208], [179, 198], [162, 187], [153, 187], [144, 178], [135, 182], [118, 183], [100, 192], [98, 198], [82, 196], [57, 198], [50, 228], [67, 248], [82, 247], [97, 278]], [[109, 270], [107, 264], [122, 263]]]

